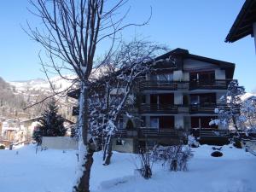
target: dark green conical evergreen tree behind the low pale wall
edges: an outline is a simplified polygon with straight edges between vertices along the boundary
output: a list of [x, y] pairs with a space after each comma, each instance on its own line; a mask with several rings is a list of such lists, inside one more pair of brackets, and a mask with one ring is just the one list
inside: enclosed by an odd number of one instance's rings
[[33, 138], [38, 144], [42, 143], [42, 137], [63, 137], [67, 129], [64, 127], [64, 119], [58, 112], [56, 102], [49, 102], [48, 108], [39, 119], [37, 129], [33, 133]]

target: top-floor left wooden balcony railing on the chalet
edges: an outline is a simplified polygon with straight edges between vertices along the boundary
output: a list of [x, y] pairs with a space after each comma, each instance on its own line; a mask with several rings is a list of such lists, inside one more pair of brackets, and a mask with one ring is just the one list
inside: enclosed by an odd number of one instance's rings
[[177, 90], [177, 83], [168, 81], [141, 81], [140, 90]]

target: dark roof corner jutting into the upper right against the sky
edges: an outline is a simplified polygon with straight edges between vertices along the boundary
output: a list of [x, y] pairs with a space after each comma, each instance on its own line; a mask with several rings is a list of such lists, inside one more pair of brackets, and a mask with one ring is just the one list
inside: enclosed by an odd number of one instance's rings
[[247, 35], [253, 36], [254, 22], [256, 22], [256, 0], [246, 0], [225, 38], [225, 42], [233, 43]]

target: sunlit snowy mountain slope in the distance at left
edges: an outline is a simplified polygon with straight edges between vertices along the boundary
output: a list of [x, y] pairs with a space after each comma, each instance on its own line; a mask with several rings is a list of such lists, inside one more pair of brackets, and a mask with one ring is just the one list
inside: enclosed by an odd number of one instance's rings
[[[68, 79], [75, 79], [74, 76], [66, 76]], [[62, 79], [57, 76], [49, 79], [50, 83], [45, 79], [31, 79], [22, 81], [5, 82], [0, 78], [0, 118], [18, 118], [29, 119], [40, 115], [47, 107], [47, 102], [39, 103], [23, 110], [36, 102], [44, 100], [55, 92], [61, 92], [69, 88], [73, 82]], [[50, 85], [51, 84], [51, 85]], [[64, 91], [65, 92], [65, 91]], [[62, 97], [55, 96], [59, 106], [59, 113], [67, 119], [75, 120], [72, 116], [72, 108], [76, 105], [76, 101], [62, 94]]]

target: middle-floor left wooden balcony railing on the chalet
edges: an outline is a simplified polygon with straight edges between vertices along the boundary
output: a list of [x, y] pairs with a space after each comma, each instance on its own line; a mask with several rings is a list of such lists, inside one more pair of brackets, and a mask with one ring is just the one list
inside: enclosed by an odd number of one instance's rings
[[173, 104], [141, 104], [140, 113], [177, 113]]

